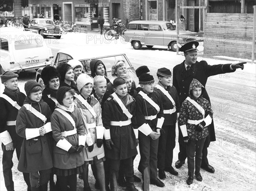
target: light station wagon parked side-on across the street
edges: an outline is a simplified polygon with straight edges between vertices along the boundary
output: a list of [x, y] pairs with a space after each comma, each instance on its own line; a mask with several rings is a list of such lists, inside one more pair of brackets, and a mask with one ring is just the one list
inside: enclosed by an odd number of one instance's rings
[[128, 24], [128, 29], [124, 32], [124, 39], [130, 42], [134, 49], [141, 49], [142, 45], [148, 48], [153, 46], [168, 46], [168, 49], [176, 51], [177, 38], [179, 44], [189, 41], [202, 41], [203, 33], [189, 31], [179, 31], [177, 35], [176, 27], [169, 21], [156, 20], [136, 20]]

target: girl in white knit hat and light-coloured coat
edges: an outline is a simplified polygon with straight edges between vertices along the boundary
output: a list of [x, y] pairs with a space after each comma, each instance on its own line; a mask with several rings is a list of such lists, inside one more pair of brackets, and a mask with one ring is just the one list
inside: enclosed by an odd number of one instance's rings
[[[105, 79], [105, 78], [104, 78]], [[105, 174], [103, 162], [105, 154], [103, 148], [103, 134], [105, 128], [102, 124], [101, 107], [96, 98], [90, 96], [93, 90], [93, 79], [87, 74], [81, 74], [77, 78], [77, 88], [80, 95], [77, 96], [74, 103], [81, 112], [84, 123], [85, 134], [87, 135], [87, 144], [83, 149], [84, 153], [84, 191], [90, 191], [88, 182], [88, 165], [95, 165], [96, 180], [99, 183], [101, 191], [105, 191]]]

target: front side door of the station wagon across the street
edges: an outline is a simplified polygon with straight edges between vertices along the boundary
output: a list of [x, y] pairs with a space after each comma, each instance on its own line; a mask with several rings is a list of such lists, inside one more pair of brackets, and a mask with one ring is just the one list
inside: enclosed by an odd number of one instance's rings
[[149, 25], [146, 44], [163, 46], [163, 30], [160, 25]]

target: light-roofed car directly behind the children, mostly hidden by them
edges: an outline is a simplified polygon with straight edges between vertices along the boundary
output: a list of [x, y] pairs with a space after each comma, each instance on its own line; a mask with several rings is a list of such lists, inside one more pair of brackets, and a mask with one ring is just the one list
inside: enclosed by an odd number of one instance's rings
[[[69, 47], [65, 49], [61, 49], [58, 51], [54, 67], [57, 67], [59, 64], [67, 64], [68, 61], [71, 59], [76, 59], [81, 62], [83, 65], [83, 71], [84, 73], [87, 73], [88, 75], [91, 74], [90, 71], [90, 61], [93, 59], [99, 59], [101, 60], [106, 67], [108, 78], [111, 78], [111, 67], [117, 60], [124, 60], [128, 75], [131, 76], [131, 78], [135, 81], [136, 84], [138, 84], [138, 79], [136, 76], [136, 72], [134, 67], [132, 66], [131, 62], [127, 58], [126, 54], [119, 49], [109, 49], [106, 46], [76, 46], [76, 47]], [[39, 84], [41, 84], [44, 87], [44, 82], [41, 78], [41, 71], [43, 67], [37, 70], [36, 73], [36, 81], [38, 81]]]

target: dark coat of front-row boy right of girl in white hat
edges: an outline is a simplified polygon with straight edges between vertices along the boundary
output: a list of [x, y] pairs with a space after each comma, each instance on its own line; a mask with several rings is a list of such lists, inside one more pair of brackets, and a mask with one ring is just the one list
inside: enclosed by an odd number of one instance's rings
[[102, 110], [102, 122], [106, 129], [110, 129], [111, 140], [114, 146], [111, 150], [104, 148], [105, 156], [110, 159], [128, 159], [137, 155], [136, 138], [133, 128], [137, 128], [136, 121], [136, 105], [135, 100], [128, 95], [129, 101], [126, 104], [126, 108], [133, 115], [131, 118], [131, 124], [125, 126], [113, 126], [110, 125], [111, 121], [127, 121], [128, 117], [123, 113], [119, 104], [110, 96], [104, 104], [104, 110]]

